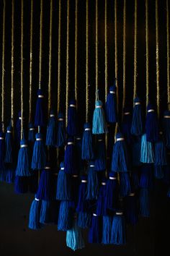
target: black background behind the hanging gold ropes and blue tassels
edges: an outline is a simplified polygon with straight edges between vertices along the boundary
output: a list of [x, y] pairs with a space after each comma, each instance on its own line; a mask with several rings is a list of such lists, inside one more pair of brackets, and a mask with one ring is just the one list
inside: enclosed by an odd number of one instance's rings
[[[66, 101], [66, 7], [62, 0], [61, 14], [61, 109], [65, 111]], [[108, 0], [108, 85], [115, 77], [115, 40], [114, 40], [114, 1]], [[117, 1], [117, 43], [118, 43], [118, 77], [119, 108], [122, 108], [122, 10], [123, 1]], [[156, 44], [155, 44], [155, 1], [149, 0], [149, 74], [150, 99], [156, 99]], [[170, 4], [170, 3], [169, 3]], [[11, 7], [12, 1], [6, 1], [6, 35], [5, 35], [5, 128], [10, 120], [11, 88]], [[80, 125], [84, 124], [85, 115], [85, 29], [86, 1], [79, 0], [78, 12], [78, 108]], [[15, 119], [20, 110], [20, 1], [15, 1], [14, 13], [14, 114]], [[70, 66], [69, 98], [74, 93], [74, 12], [75, 1], [70, 1]], [[0, 37], [2, 38], [3, 1], [0, 1]], [[160, 85], [161, 112], [166, 108], [166, 1], [159, 1], [159, 45], [160, 45]], [[49, 50], [50, 1], [44, 0], [43, 40], [42, 40], [42, 88], [48, 95], [48, 50]], [[34, 1], [33, 24], [33, 101], [35, 109], [38, 88], [39, 67], [39, 25], [40, 1]], [[127, 65], [126, 65], [126, 105], [133, 108], [133, 38], [134, 1], [127, 0]], [[2, 48], [0, 40], [0, 49]], [[30, 54], [30, 1], [24, 0], [24, 113], [27, 123], [29, 95], [29, 54]], [[1, 51], [0, 51], [1, 54]], [[1, 56], [0, 56], [1, 59]], [[52, 59], [52, 104], [57, 109], [57, 68], [58, 68], [58, 1], [53, 1], [53, 59]], [[1, 70], [0, 70], [1, 72]], [[1, 75], [1, 74], [0, 74]], [[138, 95], [146, 101], [146, 45], [145, 45], [145, 1], [138, 1]], [[90, 120], [95, 101], [95, 1], [89, 1], [89, 110]], [[99, 93], [104, 101], [104, 0], [99, 0]], [[1, 104], [0, 104], [1, 105]], [[33, 121], [33, 120], [32, 120]], [[123, 247], [88, 244], [78, 252], [71, 252], [66, 247], [66, 234], [57, 231], [55, 226], [46, 226], [40, 231], [27, 228], [30, 204], [33, 195], [15, 195], [13, 185], [0, 184], [0, 252], [8, 255], [169, 255], [170, 207], [166, 198], [166, 186], [157, 180], [152, 192], [151, 217], [140, 218], [138, 225], [128, 226], [128, 244]], [[85, 232], [86, 236], [86, 232]], [[87, 239], [86, 239], [87, 241]]]

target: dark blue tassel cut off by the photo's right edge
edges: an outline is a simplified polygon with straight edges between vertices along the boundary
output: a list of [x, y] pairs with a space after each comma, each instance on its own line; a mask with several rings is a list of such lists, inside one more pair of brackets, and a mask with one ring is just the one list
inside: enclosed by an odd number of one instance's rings
[[164, 111], [163, 128], [166, 147], [170, 148], [170, 110]]

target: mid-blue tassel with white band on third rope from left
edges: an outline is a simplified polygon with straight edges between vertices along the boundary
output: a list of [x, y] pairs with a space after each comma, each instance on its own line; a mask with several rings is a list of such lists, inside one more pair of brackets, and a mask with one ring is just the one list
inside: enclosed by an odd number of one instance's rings
[[17, 176], [30, 176], [30, 151], [27, 145], [27, 140], [22, 139], [18, 153], [18, 161], [16, 168]]

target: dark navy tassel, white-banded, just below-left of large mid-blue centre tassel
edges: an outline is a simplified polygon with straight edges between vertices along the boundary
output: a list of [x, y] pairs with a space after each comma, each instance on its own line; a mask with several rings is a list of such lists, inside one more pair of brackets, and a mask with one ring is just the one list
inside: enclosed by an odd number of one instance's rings
[[106, 187], [106, 208], [115, 211], [118, 207], [118, 183], [117, 174], [113, 171], [109, 172], [109, 179]]

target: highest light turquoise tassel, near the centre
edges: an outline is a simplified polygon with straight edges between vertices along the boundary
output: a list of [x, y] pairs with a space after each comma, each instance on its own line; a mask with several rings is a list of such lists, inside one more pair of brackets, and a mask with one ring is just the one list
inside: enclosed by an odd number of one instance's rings
[[93, 114], [93, 125], [92, 133], [94, 135], [100, 135], [102, 133], [107, 133], [107, 122], [104, 115], [104, 109], [102, 108], [102, 101], [96, 101], [96, 106]]

